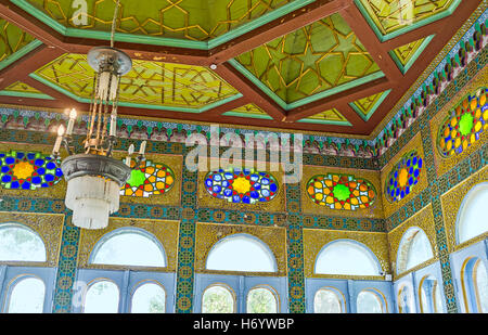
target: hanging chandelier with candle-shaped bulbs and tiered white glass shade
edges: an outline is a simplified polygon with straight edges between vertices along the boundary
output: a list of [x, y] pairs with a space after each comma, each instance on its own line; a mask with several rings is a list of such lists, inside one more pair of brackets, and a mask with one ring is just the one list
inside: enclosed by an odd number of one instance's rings
[[[93, 93], [88, 113], [87, 137], [79, 153], [73, 146], [73, 128], [77, 113], [72, 109], [64, 129], [57, 128], [53, 156], [60, 157], [61, 145], [67, 157], [61, 169], [67, 182], [65, 205], [73, 210], [73, 224], [85, 229], [103, 229], [108, 216], [119, 207], [120, 188], [131, 173], [133, 144], [123, 162], [114, 158], [116, 143], [118, 87], [123, 75], [132, 67], [132, 61], [123, 51], [114, 48], [117, 1], [112, 22], [111, 47], [98, 47], [88, 52], [88, 63], [95, 70]], [[134, 169], [144, 160], [145, 141], [136, 157]]]

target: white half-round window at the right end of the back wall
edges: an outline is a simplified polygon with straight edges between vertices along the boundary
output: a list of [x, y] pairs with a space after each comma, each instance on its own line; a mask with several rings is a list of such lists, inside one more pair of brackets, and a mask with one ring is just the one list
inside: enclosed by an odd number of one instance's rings
[[319, 253], [316, 273], [345, 275], [380, 275], [381, 266], [374, 254], [355, 241], [337, 240]]

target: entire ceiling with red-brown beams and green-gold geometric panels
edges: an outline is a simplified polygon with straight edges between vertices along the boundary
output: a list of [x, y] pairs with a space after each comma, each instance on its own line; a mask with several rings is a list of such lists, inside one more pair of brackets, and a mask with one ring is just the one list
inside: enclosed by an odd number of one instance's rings
[[[114, 0], [0, 0], [0, 104], [87, 112]], [[120, 0], [120, 115], [373, 138], [483, 0]], [[483, 8], [483, 9], [479, 9]], [[386, 120], [387, 121], [387, 120]]]

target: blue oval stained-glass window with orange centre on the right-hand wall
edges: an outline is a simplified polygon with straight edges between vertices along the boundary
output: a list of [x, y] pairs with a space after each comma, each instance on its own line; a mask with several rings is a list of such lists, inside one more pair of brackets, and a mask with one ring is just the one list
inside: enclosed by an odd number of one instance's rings
[[385, 181], [385, 195], [390, 203], [398, 202], [412, 192], [419, 183], [423, 160], [416, 151], [411, 151], [400, 158]]

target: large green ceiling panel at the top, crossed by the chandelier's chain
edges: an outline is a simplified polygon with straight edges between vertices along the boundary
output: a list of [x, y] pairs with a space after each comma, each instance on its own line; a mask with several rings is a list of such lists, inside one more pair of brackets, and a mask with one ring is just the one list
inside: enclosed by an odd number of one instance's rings
[[[11, 0], [33, 15], [65, 35], [77, 36], [78, 29], [92, 38], [108, 37], [114, 14], [113, 0]], [[120, 0], [117, 36], [145, 36], [144, 42], [158, 43], [154, 38], [220, 43], [259, 25], [304, 7], [313, 0]], [[78, 13], [86, 12], [86, 16]], [[126, 40], [136, 41], [128, 36]], [[128, 39], [127, 39], [128, 38]], [[218, 40], [218, 41], [217, 41]], [[140, 40], [141, 41], [141, 40]], [[169, 42], [168, 40], [165, 41]], [[180, 47], [208, 46], [180, 43]], [[215, 46], [213, 46], [215, 47]]]

